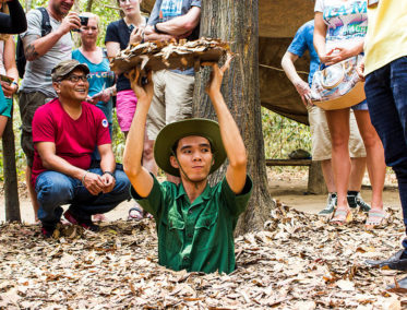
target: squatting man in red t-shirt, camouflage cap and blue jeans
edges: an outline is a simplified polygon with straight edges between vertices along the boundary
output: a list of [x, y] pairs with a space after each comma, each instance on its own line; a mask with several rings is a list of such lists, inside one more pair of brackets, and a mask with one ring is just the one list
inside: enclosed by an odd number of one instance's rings
[[[38, 195], [43, 235], [51, 237], [64, 217], [93, 231], [93, 214], [106, 213], [127, 200], [130, 182], [116, 169], [109, 123], [104, 112], [86, 103], [89, 69], [64, 60], [52, 69], [58, 97], [39, 107], [33, 119], [32, 182]], [[91, 157], [95, 147], [100, 162]]]

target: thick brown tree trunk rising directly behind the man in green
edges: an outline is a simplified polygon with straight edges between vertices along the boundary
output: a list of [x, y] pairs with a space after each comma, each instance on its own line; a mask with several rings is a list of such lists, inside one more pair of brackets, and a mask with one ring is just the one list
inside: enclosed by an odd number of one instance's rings
[[[259, 95], [259, 25], [258, 0], [202, 1], [201, 35], [218, 37], [230, 43], [232, 60], [223, 83], [223, 94], [248, 150], [248, 172], [253, 180], [252, 198], [247, 212], [240, 216], [236, 235], [263, 229], [274, 206], [267, 190], [262, 117]], [[208, 69], [195, 74], [193, 115], [216, 119], [205, 94]], [[213, 176], [218, 181], [224, 167]]]

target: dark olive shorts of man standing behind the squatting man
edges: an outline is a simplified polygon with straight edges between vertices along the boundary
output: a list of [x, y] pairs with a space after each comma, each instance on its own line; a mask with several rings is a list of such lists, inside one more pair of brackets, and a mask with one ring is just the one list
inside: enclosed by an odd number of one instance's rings
[[33, 143], [33, 118], [35, 111], [52, 98], [44, 95], [40, 92], [24, 93], [19, 96], [20, 115], [22, 121], [21, 147], [27, 158], [27, 165], [33, 167], [34, 160], [34, 143]]

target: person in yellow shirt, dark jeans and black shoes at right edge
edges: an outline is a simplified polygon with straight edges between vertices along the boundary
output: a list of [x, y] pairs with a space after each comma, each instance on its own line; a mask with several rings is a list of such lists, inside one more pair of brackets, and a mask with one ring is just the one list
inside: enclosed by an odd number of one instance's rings
[[[384, 146], [385, 160], [396, 174], [407, 231], [407, 1], [369, 0], [364, 40], [364, 91], [370, 118]], [[403, 249], [371, 265], [407, 270]], [[407, 288], [407, 277], [398, 282]]]

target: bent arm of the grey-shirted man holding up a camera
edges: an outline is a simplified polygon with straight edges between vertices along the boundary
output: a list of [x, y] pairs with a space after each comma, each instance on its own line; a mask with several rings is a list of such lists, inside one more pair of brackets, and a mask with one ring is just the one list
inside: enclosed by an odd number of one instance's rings
[[25, 58], [27, 59], [27, 61], [36, 60], [37, 58], [47, 53], [62, 36], [68, 34], [70, 31], [80, 27], [81, 20], [79, 17], [79, 14], [76, 12], [69, 12], [68, 15], [62, 20], [61, 25], [56, 32], [51, 32], [44, 37], [38, 34], [28, 33], [22, 38]]

